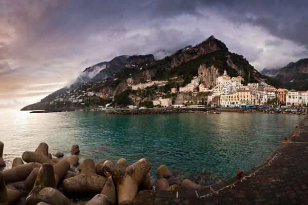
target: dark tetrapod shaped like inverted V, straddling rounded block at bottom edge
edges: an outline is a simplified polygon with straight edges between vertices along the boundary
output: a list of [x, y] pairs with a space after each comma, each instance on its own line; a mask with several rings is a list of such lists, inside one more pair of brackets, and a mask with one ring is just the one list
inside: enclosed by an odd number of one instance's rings
[[[43, 163], [40, 170], [38, 171], [34, 187], [27, 195], [25, 204], [32, 205], [40, 202], [39, 193], [47, 187], [56, 191], [57, 196], [60, 197], [63, 204], [71, 204], [71, 201], [66, 196], [56, 190], [53, 167], [49, 163]], [[52, 194], [52, 192], [50, 193]]]

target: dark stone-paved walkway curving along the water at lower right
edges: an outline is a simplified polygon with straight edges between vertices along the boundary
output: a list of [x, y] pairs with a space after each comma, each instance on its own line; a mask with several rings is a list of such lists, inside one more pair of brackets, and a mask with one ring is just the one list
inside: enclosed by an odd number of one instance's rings
[[143, 191], [134, 204], [308, 204], [308, 117], [243, 176], [203, 190]]

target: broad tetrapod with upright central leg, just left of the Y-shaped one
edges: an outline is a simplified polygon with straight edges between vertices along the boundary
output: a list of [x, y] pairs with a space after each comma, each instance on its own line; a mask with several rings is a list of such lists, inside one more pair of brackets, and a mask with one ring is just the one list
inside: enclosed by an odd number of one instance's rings
[[74, 193], [101, 193], [107, 178], [95, 172], [92, 159], [85, 159], [81, 174], [64, 179], [63, 191]]

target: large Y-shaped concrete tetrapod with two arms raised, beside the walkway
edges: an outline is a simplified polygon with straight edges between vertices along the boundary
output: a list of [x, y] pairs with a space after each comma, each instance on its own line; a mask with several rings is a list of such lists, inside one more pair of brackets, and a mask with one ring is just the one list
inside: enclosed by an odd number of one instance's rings
[[111, 174], [117, 187], [119, 205], [133, 204], [137, 196], [138, 187], [151, 169], [150, 163], [142, 158], [127, 168], [107, 160], [100, 165]]

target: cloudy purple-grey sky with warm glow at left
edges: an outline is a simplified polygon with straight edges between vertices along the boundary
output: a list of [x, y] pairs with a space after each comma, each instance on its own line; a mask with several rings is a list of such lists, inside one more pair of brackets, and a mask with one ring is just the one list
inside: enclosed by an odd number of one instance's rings
[[308, 57], [308, 1], [0, 0], [0, 108], [119, 55], [161, 59], [214, 35], [257, 70]]

